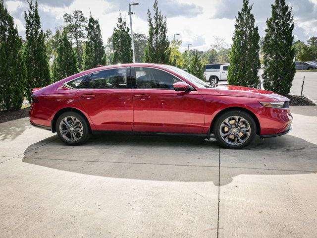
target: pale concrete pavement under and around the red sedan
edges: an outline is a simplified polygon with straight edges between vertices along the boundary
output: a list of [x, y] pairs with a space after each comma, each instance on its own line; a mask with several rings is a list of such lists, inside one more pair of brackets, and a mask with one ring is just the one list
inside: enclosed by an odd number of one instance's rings
[[196, 137], [62, 144], [28, 119], [0, 124], [0, 237], [313, 238], [317, 107], [244, 150]]

